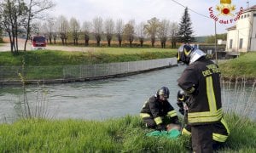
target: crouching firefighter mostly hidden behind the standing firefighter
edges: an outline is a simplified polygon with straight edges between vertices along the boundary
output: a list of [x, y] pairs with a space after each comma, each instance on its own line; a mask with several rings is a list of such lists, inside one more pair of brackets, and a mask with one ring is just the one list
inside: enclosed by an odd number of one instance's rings
[[[188, 107], [189, 96], [184, 93], [183, 90], [177, 92], [177, 105], [179, 112], [184, 116], [185, 126], [183, 126], [182, 134], [191, 136], [191, 126], [187, 124], [188, 121]], [[221, 118], [219, 122], [213, 124], [212, 139], [213, 149], [218, 149], [229, 137], [230, 130], [224, 118]]]

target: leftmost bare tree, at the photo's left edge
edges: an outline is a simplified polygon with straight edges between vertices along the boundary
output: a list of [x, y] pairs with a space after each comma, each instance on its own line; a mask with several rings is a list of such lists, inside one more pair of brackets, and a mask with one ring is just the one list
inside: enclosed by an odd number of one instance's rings
[[28, 8], [22, 0], [3, 0], [0, 3], [0, 26], [9, 35], [12, 54], [18, 54], [18, 35], [25, 26]]

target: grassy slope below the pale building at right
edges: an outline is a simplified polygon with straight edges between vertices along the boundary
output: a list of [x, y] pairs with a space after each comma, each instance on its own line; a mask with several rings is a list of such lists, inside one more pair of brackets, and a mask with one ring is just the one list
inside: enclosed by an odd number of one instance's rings
[[219, 64], [223, 77], [256, 77], [256, 52]]

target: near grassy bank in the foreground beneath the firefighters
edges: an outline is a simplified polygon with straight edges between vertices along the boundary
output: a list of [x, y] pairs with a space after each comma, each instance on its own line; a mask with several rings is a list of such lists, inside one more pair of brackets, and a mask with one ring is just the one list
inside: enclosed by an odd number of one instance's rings
[[[225, 116], [230, 138], [220, 151], [255, 152], [256, 123]], [[137, 116], [96, 121], [23, 120], [0, 125], [1, 152], [185, 152], [189, 138], [146, 137]]]

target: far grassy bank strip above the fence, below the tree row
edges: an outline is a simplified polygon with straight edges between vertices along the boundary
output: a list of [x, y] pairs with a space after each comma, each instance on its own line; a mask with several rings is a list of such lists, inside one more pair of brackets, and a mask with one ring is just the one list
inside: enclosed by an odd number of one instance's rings
[[137, 61], [147, 59], [164, 59], [176, 56], [175, 50], [159, 48], [86, 48], [84, 52], [64, 51], [29, 51], [13, 55], [0, 53], [0, 65], [19, 66], [55, 66], [55, 65], [88, 65], [99, 63]]

